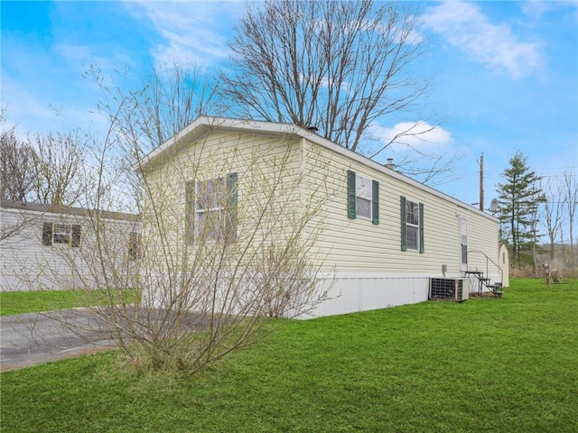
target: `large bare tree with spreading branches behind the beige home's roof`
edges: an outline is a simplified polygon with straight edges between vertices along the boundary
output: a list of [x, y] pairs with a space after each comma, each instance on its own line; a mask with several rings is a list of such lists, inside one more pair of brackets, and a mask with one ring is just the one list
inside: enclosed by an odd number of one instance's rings
[[247, 5], [230, 44], [232, 66], [221, 74], [223, 93], [236, 115], [315, 126], [331, 141], [375, 158], [391, 143], [434, 128], [416, 122], [387, 143], [368, 145], [376, 138], [373, 124], [398, 122], [429, 86], [410, 74], [423, 53], [417, 24], [412, 6], [397, 2]]

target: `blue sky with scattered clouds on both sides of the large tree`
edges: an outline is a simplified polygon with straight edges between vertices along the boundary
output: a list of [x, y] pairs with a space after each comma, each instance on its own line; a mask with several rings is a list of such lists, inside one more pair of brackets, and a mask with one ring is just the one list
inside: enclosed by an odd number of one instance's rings
[[[174, 62], [214, 73], [247, 5], [256, 2], [2, 1], [4, 126], [20, 134], [103, 127], [98, 87], [83, 77], [91, 66], [128, 70], [127, 86]], [[424, 99], [432, 115], [374, 131], [385, 140], [405, 124], [439, 125], [418, 145], [461, 159], [434, 188], [469, 204], [479, 202], [483, 153], [485, 208], [517, 151], [545, 180], [578, 175], [578, 2], [413, 5], [425, 49], [413, 72], [432, 81]]]

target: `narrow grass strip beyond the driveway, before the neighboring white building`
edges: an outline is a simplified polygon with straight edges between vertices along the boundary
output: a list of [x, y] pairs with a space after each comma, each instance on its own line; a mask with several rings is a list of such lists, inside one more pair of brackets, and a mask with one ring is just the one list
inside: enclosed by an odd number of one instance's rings
[[[123, 293], [126, 302], [132, 302], [136, 296], [136, 290]], [[3, 291], [0, 292], [0, 316], [107, 305], [108, 302], [105, 290]]]

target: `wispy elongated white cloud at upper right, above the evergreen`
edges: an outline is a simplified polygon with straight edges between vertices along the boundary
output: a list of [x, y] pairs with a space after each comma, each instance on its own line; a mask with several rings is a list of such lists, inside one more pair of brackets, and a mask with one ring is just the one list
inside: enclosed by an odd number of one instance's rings
[[477, 5], [444, 2], [428, 8], [423, 20], [427, 28], [488, 69], [505, 69], [511, 77], [521, 78], [537, 75], [543, 68], [537, 43], [519, 41], [507, 24], [491, 23]]

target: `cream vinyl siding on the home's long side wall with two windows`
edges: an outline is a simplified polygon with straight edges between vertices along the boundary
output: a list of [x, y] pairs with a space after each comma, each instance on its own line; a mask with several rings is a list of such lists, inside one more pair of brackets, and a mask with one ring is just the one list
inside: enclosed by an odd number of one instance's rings
[[[316, 148], [313, 143], [308, 143], [308, 146]], [[325, 230], [313, 249], [322, 258], [323, 269], [327, 272], [443, 276], [442, 265], [446, 264], [448, 275], [460, 276], [459, 214], [469, 217], [470, 248], [475, 246], [492, 257], [498, 256], [498, 223], [494, 218], [480, 215], [476, 209], [445, 199], [425, 187], [420, 188], [387, 172], [373, 170], [340, 152], [324, 148], [321, 153], [317, 160], [306, 160], [305, 170], [309, 173], [308, 185], [325, 182], [328, 188], [335, 191], [326, 204]], [[333, 174], [327, 176], [326, 172], [320, 172], [317, 166], [319, 160], [327, 161], [329, 169], [326, 170]], [[343, 181], [343, 175], [334, 173], [346, 173], [348, 170], [363, 173], [363, 177], [379, 182], [379, 226], [371, 228], [366, 224], [357, 224], [355, 219], [343, 217], [343, 209], [348, 208], [347, 182]], [[423, 226], [419, 228], [424, 230], [424, 243], [419, 244], [416, 251], [424, 248], [424, 253], [408, 254], [400, 249], [400, 197], [423, 205]], [[471, 266], [477, 263], [474, 257], [470, 260]]]

